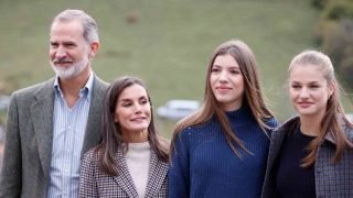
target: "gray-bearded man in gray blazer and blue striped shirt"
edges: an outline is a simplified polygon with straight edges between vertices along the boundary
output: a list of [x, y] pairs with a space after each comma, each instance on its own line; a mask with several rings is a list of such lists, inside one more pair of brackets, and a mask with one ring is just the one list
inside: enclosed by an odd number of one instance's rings
[[107, 84], [90, 63], [97, 24], [79, 10], [52, 22], [50, 63], [56, 77], [11, 96], [0, 197], [77, 197], [83, 154], [98, 144]]

